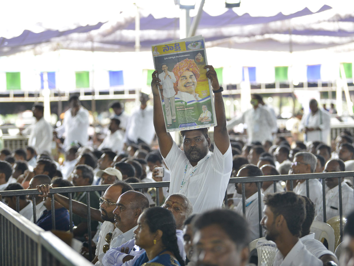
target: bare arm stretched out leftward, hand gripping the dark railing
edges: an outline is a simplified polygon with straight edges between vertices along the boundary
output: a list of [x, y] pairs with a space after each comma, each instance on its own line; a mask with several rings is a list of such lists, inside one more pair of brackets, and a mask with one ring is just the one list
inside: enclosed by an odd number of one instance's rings
[[[50, 185], [49, 184], [43, 184], [43, 185], [37, 185], [37, 189], [39, 192], [42, 192], [40, 196], [47, 197], [51, 196], [49, 194], [50, 190]], [[69, 198], [59, 195], [59, 194], [54, 194], [54, 200], [63, 205], [64, 208], [69, 210]], [[87, 205], [76, 200], [72, 200], [72, 208], [73, 208], [73, 213], [79, 215], [82, 218], [87, 218]], [[91, 220], [98, 221], [98, 222], [104, 222], [101, 218], [101, 211], [90, 207], [91, 210]]]

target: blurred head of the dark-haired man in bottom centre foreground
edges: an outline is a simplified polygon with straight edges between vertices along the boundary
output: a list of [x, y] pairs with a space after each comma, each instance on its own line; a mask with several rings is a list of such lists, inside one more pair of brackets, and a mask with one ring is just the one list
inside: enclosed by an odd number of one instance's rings
[[231, 210], [213, 210], [195, 217], [193, 250], [196, 264], [246, 266], [248, 231], [245, 219]]

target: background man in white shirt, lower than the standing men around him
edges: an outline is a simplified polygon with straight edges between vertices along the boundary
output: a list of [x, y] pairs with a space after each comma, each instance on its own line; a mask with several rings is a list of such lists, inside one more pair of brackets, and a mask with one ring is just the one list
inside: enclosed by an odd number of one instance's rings
[[124, 136], [122, 135], [120, 128], [120, 120], [116, 117], [111, 118], [106, 137], [103, 139], [101, 145], [98, 149], [111, 149], [115, 153], [119, 154], [123, 150], [124, 146]]

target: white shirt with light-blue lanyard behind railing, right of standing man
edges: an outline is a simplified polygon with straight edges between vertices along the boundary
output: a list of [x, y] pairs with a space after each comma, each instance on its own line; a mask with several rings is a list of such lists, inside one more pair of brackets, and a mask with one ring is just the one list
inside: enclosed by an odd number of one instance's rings
[[[262, 216], [263, 217], [263, 197], [264, 194], [261, 193], [261, 209], [262, 209]], [[253, 241], [257, 238], [260, 238], [261, 236], [259, 235], [259, 215], [258, 215], [258, 192], [250, 196], [249, 198], [246, 199], [245, 201], [246, 204], [246, 221], [249, 225], [250, 228], [250, 240]], [[239, 202], [239, 204], [234, 207], [233, 209], [235, 212], [237, 212], [239, 215], [243, 216], [243, 211], [242, 211], [242, 200]]]

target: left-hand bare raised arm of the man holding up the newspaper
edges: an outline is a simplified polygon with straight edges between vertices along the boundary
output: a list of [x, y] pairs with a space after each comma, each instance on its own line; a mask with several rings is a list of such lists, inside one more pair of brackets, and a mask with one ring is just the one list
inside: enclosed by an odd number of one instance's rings
[[166, 158], [169, 154], [173, 139], [170, 133], [166, 132], [164, 112], [162, 111], [162, 105], [159, 94], [160, 79], [156, 77], [157, 71], [152, 74], [151, 89], [154, 96], [154, 127], [159, 142], [160, 153], [162, 157]]

